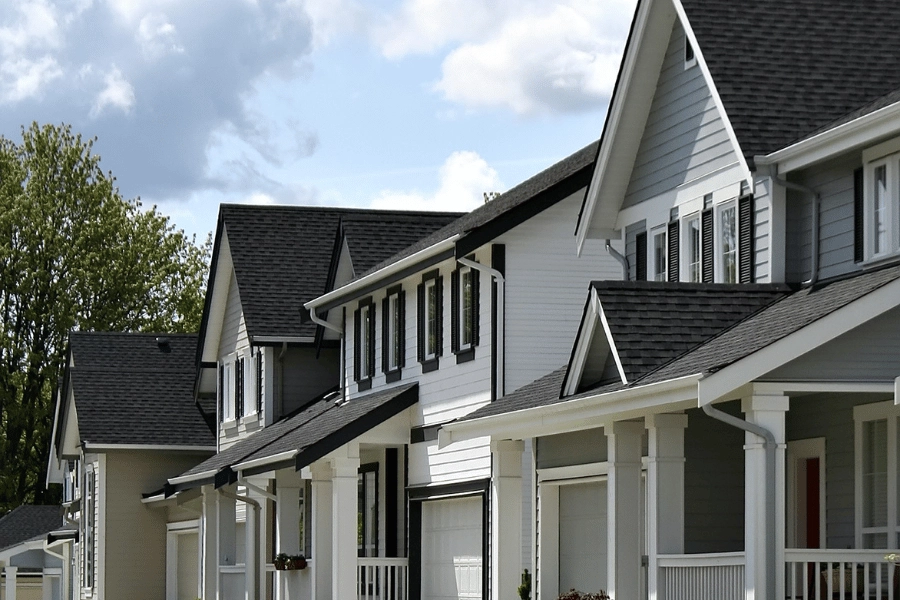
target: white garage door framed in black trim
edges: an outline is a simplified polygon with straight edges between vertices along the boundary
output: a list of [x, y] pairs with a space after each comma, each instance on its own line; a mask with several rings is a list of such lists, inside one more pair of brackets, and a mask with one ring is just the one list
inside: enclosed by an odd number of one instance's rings
[[482, 499], [422, 503], [422, 600], [481, 598]]

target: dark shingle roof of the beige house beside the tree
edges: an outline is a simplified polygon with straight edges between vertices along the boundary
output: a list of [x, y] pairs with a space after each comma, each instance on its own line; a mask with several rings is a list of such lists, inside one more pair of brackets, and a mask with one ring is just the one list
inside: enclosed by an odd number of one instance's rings
[[70, 333], [81, 441], [213, 446], [194, 401], [196, 348], [196, 334]]

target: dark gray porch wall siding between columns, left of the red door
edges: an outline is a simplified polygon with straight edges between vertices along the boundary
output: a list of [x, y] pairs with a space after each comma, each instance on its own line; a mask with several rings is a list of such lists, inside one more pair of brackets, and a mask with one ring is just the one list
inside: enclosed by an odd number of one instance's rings
[[[717, 406], [742, 416], [739, 402]], [[690, 410], [684, 436], [685, 552], [744, 549], [744, 432]]]

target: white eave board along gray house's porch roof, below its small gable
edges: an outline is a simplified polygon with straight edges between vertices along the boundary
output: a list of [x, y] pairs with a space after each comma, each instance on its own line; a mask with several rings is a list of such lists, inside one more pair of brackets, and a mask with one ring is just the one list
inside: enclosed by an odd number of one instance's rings
[[448, 423], [441, 428], [438, 446], [479, 437], [525, 439], [602, 426], [609, 420], [629, 419], [652, 412], [696, 406], [697, 382], [702, 374], [586, 396], [502, 415]]

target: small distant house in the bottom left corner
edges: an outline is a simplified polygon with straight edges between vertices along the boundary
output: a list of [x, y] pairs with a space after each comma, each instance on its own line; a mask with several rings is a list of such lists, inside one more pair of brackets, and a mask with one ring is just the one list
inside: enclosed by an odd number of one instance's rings
[[45, 547], [63, 529], [59, 506], [22, 505], [0, 518], [4, 600], [61, 600], [64, 557]]

